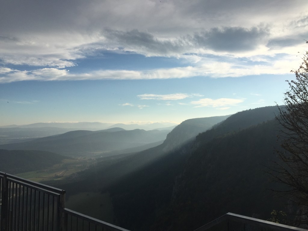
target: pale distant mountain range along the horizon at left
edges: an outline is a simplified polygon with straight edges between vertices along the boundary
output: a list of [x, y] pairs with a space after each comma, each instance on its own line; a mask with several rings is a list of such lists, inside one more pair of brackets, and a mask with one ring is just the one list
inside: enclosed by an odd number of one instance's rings
[[78, 123], [36, 123], [27, 125], [0, 126], [0, 144], [18, 143], [30, 141], [33, 138], [53, 136], [76, 130], [99, 131], [109, 128], [123, 128], [125, 130], [143, 129], [172, 130], [177, 124], [163, 122], [152, 124], [108, 124], [100, 122]]

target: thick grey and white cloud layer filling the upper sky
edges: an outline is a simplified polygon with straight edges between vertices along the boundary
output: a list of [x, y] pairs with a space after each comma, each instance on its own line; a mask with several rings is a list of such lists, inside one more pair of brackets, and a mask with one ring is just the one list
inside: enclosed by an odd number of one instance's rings
[[[308, 39], [308, 2], [301, 0], [1, 4], [0, 83], [286, 74]], [[78, 60], [107, 51], [176, 57], [186, 65], [69, 72]]]

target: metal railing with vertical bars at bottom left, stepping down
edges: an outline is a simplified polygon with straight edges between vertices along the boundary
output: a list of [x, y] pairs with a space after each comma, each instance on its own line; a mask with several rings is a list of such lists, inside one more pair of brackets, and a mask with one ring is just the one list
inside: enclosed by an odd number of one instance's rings
[[0, 231], [128, 231], [65, 208], [65, 191], [0, 172]]

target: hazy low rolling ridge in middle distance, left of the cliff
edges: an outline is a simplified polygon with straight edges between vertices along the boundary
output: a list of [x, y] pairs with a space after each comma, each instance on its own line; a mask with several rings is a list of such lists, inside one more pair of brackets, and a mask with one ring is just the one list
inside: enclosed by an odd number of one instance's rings
[[73, 131], [61, 135], [43, 137], [37, 140], [0, 145], [3, 149], [43, 150], [63, 155], [83, 156], [89, 153], [103, 153], [126, 148], [134, 148], [164, 140], [168, 130], [125, 131], [111, 128], [101, 131]]

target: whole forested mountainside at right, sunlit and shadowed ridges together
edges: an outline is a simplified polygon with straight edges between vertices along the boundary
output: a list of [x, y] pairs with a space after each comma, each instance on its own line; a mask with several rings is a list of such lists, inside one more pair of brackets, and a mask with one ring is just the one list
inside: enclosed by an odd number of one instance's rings
[[[262, 171], [279, 148], [276, 109], [184, 121], [163, 144], [103, 160], [59, 187], [68, 196], [83, 189], [108, 191], [115, 223], [131, 230], [193, 230], [227, 212], [266, 219], [273, 209], [284, 209], [266, 190], [274, 185]], [[183, 135], [210, 120], [217, 124], [197, 137]]]

